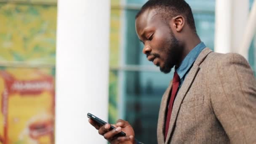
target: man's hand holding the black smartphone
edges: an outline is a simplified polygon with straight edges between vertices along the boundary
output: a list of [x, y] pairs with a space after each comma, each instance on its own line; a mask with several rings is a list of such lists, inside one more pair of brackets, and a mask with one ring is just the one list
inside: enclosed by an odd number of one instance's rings
[[[104, 136], [104, 138], [111, 144], [135, 144], [133, 128], [127, 121], [117, 120], [117, 123], [113, 125], [115, 127], [113, 130], [110, 130], [110, 124], [108, 123], [103, 126], [99, 126], [92, 119], [89, 119], [88, 121], [97, 130], [99, 130], [99, 134]], [[126, 136], [116, 137], [115, 135], [121, 131], [125, 132]]]

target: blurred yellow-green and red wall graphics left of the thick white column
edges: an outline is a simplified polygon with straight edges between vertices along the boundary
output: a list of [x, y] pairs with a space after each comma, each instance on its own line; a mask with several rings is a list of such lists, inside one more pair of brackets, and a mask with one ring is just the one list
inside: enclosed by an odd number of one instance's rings
[[54, 143], [56, 21], [56, 0], [0, 0], [0, 143]]

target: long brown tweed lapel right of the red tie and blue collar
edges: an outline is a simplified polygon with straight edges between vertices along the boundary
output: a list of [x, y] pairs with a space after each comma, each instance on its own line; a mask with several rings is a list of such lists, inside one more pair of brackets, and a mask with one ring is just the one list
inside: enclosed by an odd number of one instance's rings
[[[181, 107], [181, 103], [186, 96], [187, 92], [189, 91], [189, 88], [191, 84], [193, 83], [195, 76], [197, 75], [197, 72], [200, 70], [199, 65], [203, 62], [205, 57], [211, 53], [212, 51], [209, 48], [203, 49], [203, 51], [199, 54], [197, 59], [195, 60], [195, 63], [193, 64], [192, 68], [189, 70], [189, 73], [187, 74], [186, 79], [184, 80], [183, 84], [181, 85], [181, 88], [179, 89], [179, 92], [176, 95], [174, 104], [173, 104], [173, 110], [171, 113], [171, 120], [169, 124], [169, 131], [167, 134], [167, 138], [165, 141], [165, 144], [168, 144], [168, 141], [171, 138], [171, 134], [173, 133], [173, 129], [177, 120], [177, 116], [179, 114], [179, 109]], [[167, 103], [167, 99], [166, 99]], [[166, 109], [166, 107], [165, 107]]]

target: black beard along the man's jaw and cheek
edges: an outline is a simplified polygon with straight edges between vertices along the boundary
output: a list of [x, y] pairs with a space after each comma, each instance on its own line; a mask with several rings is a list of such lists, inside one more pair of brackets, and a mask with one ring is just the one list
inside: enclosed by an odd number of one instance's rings
[[164, 66], [160, 67], [160, 71], [167, 74], [171, 72], [171, 69], [179, 63], [181, 59], [181, 53], [184, 47], [179, 44], [179, 40], [174, 36], [170, 28], [170, 40], [169, 47], [165, 50], [167, 57], [164, 62]]

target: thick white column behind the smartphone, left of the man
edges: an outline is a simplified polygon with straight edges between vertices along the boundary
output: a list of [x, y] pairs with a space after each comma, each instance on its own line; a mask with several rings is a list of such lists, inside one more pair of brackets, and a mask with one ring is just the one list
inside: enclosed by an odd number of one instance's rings
[[56, 144], [104, 144], [87, 112], [107, 120], [110, 0], [58, 0]]

